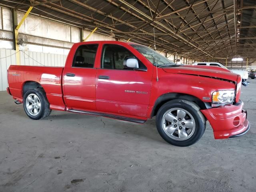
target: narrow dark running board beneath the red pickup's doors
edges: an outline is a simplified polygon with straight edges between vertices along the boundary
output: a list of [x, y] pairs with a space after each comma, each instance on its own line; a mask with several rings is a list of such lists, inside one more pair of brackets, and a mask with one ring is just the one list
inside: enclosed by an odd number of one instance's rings
[[127, 118], [127, 117], [123, 117], [123, 116], [117, 116], [117, 115], [106, 114], [106, 113], [99, 113], [99, 112], [74, 110], [74, 109], [69, 109], [68, 111], [69, 112], [75, 112], [75, 113], [84, 113], [84, 114], [90, 114], [90, 115], [104, 116], [104, 117], [115, 118], [115, 119], [120, 119], [120, 120], [124, 120], [124, 121], [136, 122], [136, 123], [144, 123], [144, 122], [146, 122], [146, 120], [142, 120], [142, 119]]

